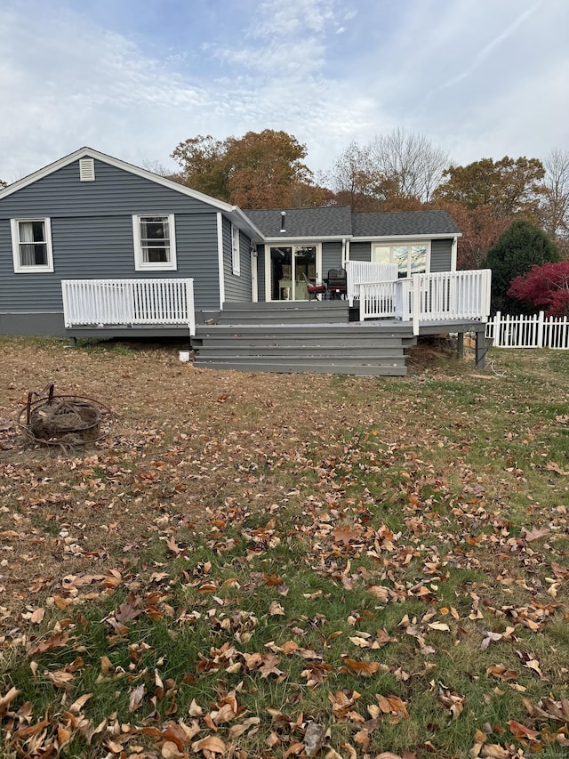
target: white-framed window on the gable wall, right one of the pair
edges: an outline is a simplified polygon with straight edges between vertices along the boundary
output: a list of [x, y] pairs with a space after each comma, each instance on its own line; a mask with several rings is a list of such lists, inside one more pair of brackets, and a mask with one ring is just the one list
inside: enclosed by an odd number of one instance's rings
[[174, 214], [132, 216], [134, 268], [168, 271], [177, 268]]

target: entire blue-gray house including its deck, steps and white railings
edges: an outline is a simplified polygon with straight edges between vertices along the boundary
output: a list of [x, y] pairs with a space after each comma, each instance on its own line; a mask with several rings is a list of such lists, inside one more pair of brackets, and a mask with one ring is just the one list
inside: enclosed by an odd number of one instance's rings
[[[196, 366], [404, 375], [469, 330], [490, 272], [457, 271], [443, 211], [242, 211], [82, 148], [0, 190], [0, 335], [188, 337]], [[340, 270], [335, 274], [331, 270]]]

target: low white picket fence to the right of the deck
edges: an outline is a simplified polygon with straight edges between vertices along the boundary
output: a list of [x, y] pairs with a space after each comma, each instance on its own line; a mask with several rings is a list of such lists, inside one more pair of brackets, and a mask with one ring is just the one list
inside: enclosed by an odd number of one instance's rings
[[569, 319], [533, 316], [502, 316], [498, 311], [486, 322], [486, 338], [496, 348], [556, 348], [569, 350]]

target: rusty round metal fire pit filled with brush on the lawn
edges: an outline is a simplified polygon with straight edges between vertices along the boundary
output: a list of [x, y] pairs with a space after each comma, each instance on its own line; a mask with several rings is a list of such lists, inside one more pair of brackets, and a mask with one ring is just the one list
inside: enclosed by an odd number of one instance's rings
[[54, 385], [29, 392], [18, 425], [29, 440], [45, 446], [81, 446], [101, 440], [110, 428], [110, 409], [98, 400], [55, 395]]

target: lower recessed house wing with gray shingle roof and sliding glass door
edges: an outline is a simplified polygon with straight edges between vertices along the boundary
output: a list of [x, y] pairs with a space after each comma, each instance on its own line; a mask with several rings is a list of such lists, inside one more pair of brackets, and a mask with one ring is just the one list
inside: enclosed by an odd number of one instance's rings
[[397, 264], [399, 277], [456, 270], [461, 232], [445, 211], [352, 214], [348, 206], [245, 212], [258, 246], [261, 301], [308, 299], [304, 275], [321, 281], [346, 262]]

